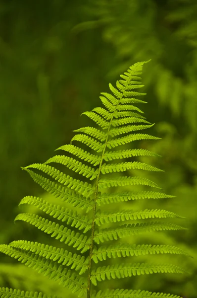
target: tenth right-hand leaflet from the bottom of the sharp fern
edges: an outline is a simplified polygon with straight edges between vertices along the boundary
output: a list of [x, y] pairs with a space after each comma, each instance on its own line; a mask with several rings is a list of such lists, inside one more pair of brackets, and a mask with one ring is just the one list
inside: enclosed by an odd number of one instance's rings
[[160, 139], [161, 138], [157, 138], [157, 137], [145, 135], [145, 134], [131, 134], [131, 135], [127, 135], [127, 136], [124, 136], [121, 138], [110, 140], [107, 143], [107, 147], [109, 149], [111, 149], [111, 148], [115, 148], [117, 146], [128, 144], [128, 143], [136, 141], [136, 140], [160, 140]]

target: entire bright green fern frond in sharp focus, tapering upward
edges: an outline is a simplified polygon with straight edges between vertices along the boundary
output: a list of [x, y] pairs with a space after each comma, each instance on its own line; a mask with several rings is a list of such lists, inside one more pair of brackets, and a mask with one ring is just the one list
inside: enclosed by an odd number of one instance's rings
[[[138, 133], [139, 130], [152, 127], [152, 124], [142, 115], [142, 110], [133, 105], [146, 103], [133, 97], [146, 94], [134, 91], [134, 89], [144, 86], [140, 82], [139, 75], [142, 74], [145, 63], [147, 62], [136, 63], [127, 72], [121, 74], [121, 79], [116, 81], [116, 88], [109, 84], [113, 95], [101, 93], [100, 99], [104, 107], [84, 113], [99, 128], [77, 129], [75, 131], [77, 134], [73, 137], [71, 144], [58, 148], [67, 152], [68, 156], [55, 155], [44, 164], [31, 164], [23, 168], [42, 188], [63, 202], [69, 203], [72, 207], [67, 209], [49, 204], [42, 198], [26, 196], [20, 204], [34, 205], [66, 225], [60, 225], [29, 213], [19, 214], [15, 220], [35, 225], [60, 242], [73, 246], [78, 252], [73, 254], [63, 248], [25, 240], [13, 241], [9, 245], [0, 245], [2, 253], [18, 259], [49, 279], [57, 281], [73, 293], [76, 292], [78, 297], [178, 298], [178, 296], [170, 294], [141, 290], [108, 289], [97, 291], [95, 288], [105, 279], [131, 278], [135, 275], [152, 273], [185, 272], [183, 268], [173, 264], [124, 262], [130, 256], [142, 254], [188, 255], [178, 247], [150, 244], [126, 245], [119, 240], [125, 236], [132, 237], [132, 235], [143, 232], [184, 229], [177, 224], [155, 221], [157, 218], [181, 218], [166, 210], [146, 209], [134, 212], [129, 209], [120, 209], [121, 202], [129, 200], [173, 197], [159, 191], [128, 191], [128, 186], [130, 189], [136, 185], [156, 189], [159, 189], [159, 186], [144, 177], [116, 173], [134, 169], [160, 171], [149, 164], [131, 160], [134, 156], [157, 156], [158, 154], [146, 149], [122, 149], [122, 145], [135, 140], [159, 139], [148, 134]], [[78, 147], [80, 144], [85, 149]], [[127, 161], [122, 161], [125, 158]], [[82, 175], [82, 180], [61, 172], [50, 165], [51, 163], [65, 165], [68, 169], [78, 173], [75, 175]], [[43, 176], [41, 172], [45, 175]], [[116, 190], [117, 186], [122, 189], [120, 192]], [[124, 189], [125, 186], [127, 186], [127, 190]], [[114, 203], [119, 203], [116, 212], [104, 212], [105, 204], [113, 205]], [[79, 209], [83, 210], [84, 214], [81, 214]], [[148, 219], [152, 219], [152, 221], [148, 221]], [[143, 221], [132, 223], [136, 220]], [[131, 222], [124, 224], [126, 221]], [[116, 222], [120, 225], [104, 227], [105, 224]], [[79, 231], [76, 231], [77, 229]], [[111, 257], [124, 258], [124, 260], [120, 264], [104, 265], [104, 261]], [[3, 298], [19, 296], [37, 298], [38, 293], [0, 288], [0, 296]], [[39, 298], [41, 297], [43, 297], [42, 293], [39, 294]]]

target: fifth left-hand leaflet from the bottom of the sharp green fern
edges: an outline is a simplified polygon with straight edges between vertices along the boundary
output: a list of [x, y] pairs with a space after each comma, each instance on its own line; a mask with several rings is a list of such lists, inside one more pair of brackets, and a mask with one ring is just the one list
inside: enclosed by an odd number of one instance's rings
[[49, 214], [59, 221], [66, 222], [66, 224], [74, 226], [79, 230], [84, 229], [84, 233], [86, 233], [92, 227], [92, 221], [89, 219], [89, 217], [82, 216], [78, 214], [77, 211], [69, 210], [63, 206], [49, 204], [49, 202], [43, 200], [42, 198], [26, 196], [20, 201], [19, 205], [21, 204], [36, 206], [46, 214]]

